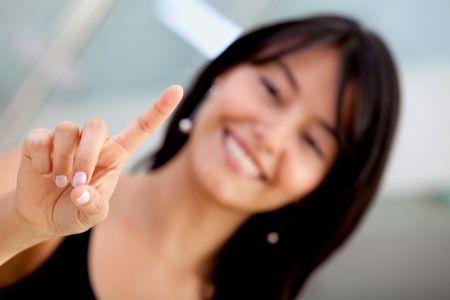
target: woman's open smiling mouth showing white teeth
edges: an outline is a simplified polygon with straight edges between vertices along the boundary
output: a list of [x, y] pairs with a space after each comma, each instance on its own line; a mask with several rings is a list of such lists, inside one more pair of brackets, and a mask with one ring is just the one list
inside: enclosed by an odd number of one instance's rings
[[245, 149], [245, 145], [228, 129], [224, 130], [226, 160], [239, 174], [253, 179], [267, 181], [258, 163]]

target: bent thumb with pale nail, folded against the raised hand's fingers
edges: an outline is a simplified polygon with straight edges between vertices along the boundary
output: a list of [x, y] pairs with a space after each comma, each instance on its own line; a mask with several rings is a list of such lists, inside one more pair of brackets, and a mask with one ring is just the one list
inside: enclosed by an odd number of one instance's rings
[[70, 200], [78, 209], [79, 223], [87, 228], [104, 221], [108, 216], [108, 197], [90, 185], [79, 185], [70, 193]]

